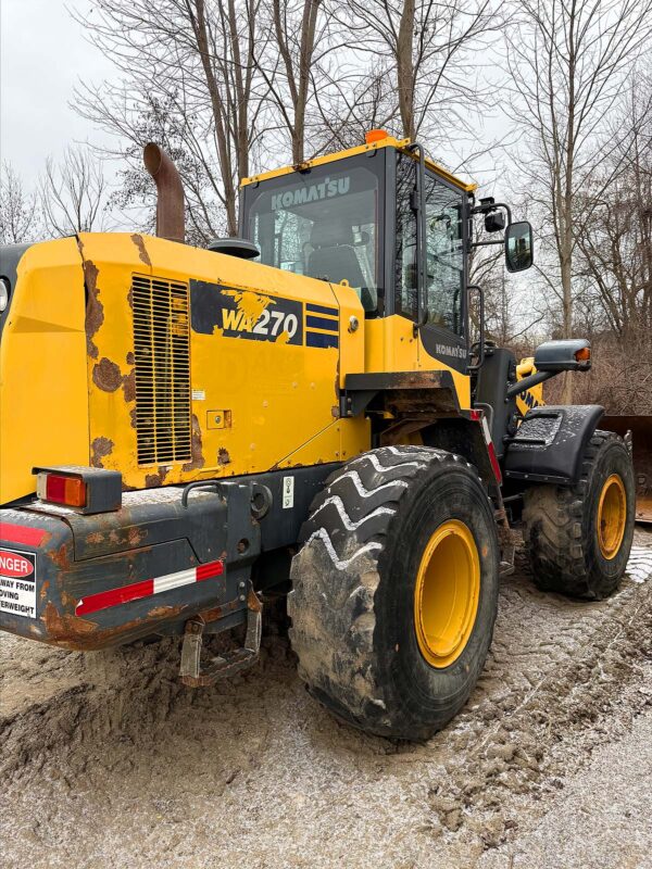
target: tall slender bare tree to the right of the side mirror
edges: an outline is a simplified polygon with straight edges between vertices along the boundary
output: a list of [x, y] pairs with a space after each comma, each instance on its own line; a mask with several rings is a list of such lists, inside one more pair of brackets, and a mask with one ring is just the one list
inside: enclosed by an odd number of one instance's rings
[[[526, 179], [559, 280], [544, 275], [573, 332], [578, 194], [613, 143], [600, 137], [631, 63], [652, 33], [651, 0], [515, 0], [505, 32], [512, 118], [524, 130]], [[572, 401], [564, 379], [563, 401]]]

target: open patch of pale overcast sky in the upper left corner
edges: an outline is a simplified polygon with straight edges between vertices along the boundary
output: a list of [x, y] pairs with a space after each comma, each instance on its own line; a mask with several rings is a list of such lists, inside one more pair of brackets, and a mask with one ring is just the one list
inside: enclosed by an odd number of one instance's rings
[[[111, 77], [63, 0], [0, 0], [0, 156], [30, 184], [49, 154], [100, 134], [70, 108], [79, 78]], [[72, 5], [91, 11], [90, 0]], [[92, 14], [92, 13], [91, 13]]]

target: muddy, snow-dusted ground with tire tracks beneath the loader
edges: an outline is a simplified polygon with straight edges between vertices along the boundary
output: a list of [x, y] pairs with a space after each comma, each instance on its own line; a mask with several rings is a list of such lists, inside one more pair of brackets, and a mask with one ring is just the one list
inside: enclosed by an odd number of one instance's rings
[[191, 691], [174, 641], [2, 637], [0, 865], [652, 867], [652, 578], [579, 604], [522, 567], [469, 703], [422, 745], [330, 718], [277, 624], [263, 646]]

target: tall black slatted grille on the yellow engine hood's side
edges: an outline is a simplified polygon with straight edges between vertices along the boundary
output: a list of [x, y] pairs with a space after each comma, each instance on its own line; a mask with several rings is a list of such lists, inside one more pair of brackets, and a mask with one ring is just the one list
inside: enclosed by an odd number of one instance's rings
[[134, 275], [138, 464], [191, 457], [188, 287]]

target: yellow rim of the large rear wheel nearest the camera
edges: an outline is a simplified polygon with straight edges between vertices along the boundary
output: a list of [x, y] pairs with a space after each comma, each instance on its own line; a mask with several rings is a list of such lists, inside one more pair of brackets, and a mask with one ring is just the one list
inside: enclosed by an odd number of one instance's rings
[[448, 667], [464, 651], [475, 625], [480, 559], [471, 530], [450, 519], [435, 531], [418, 566], [414, 627], [431, 667]]

